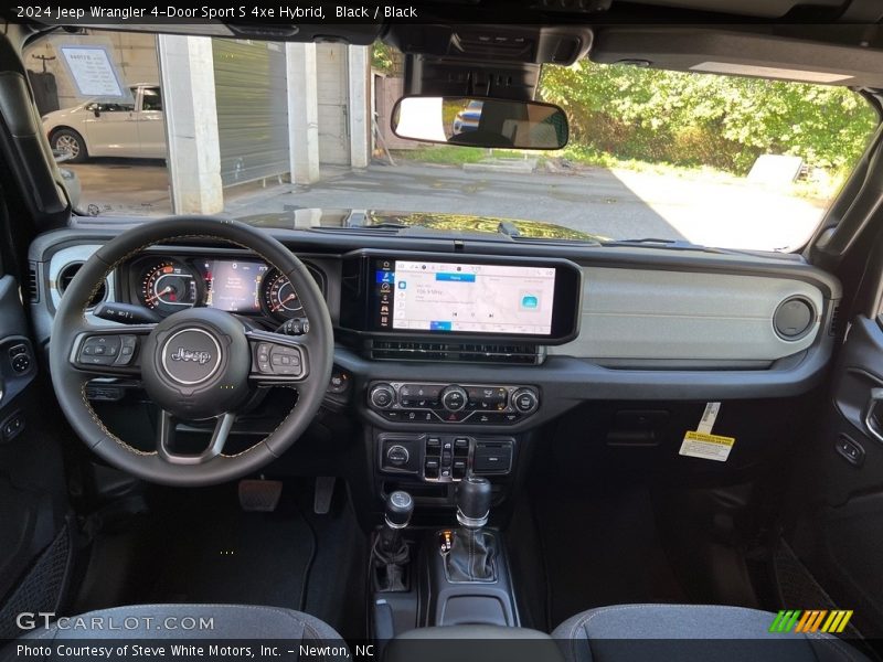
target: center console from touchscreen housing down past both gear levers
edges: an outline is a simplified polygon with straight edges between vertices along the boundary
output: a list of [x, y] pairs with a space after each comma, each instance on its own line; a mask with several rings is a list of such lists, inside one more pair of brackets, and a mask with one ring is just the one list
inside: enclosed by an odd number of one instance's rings
[[[503, 532], [489, 514], [500, 506], [500, 525], [511, 514], [507, 495], [542, 418], [530, 366], [545, 345], [576, 337], [581, 269], [553, 258], [362, 250], [344, 257], [342, 285], [341, 330], [372, 361], [360, 409], [386, 511], [371, 547], [375, 639], [519, 627]], [[438, 378], [450, 364], [433, 378], [453, 361], [456, 382]], [[494, 363], [494, 377], [474, 363]]]

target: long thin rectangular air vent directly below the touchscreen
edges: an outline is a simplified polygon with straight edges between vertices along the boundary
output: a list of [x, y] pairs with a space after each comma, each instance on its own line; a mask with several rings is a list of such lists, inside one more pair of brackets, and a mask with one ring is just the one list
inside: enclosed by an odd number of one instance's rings
[[391, 361], [459, 361], [521, 365], [536, 365], [542, 362], [540, 348], [526, 344], [375, 340], [369, 348], [369, 354], [371, 359]]

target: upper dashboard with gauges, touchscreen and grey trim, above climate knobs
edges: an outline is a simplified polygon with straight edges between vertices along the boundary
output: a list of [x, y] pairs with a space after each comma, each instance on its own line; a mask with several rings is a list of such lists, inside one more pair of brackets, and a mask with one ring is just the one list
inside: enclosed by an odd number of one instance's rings
[[[31, 308], [41, 343], [49, 342], [65, 281], [125, 226], [103, 220], [32, 244]], [[650, 399], [799, 393], [826, 364], [840, 296], [839, 284], [788, 256], [273, 234], [319, 284], [334, 324], [336, 361], [361, 375], [362, 388], [373, 381], [394, 388], [536, 384], [550, 405], [549, 393], [566, 391], [562, 407], [579, 393]], [[160, 317], [217, 307], [268, 330], [301, 314], [280, 275], [223, 244], [150, 247], [110, 273], [103, 292], [104, 301]], [[543, 418], [554, 414], [550, 405]]]

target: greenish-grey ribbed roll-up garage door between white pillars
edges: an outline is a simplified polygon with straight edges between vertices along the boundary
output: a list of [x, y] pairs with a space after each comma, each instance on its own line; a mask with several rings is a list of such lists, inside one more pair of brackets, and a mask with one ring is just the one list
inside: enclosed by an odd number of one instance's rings
[[212, 42], [225, 186], [289, 171], [285, 49], [273, 42]]

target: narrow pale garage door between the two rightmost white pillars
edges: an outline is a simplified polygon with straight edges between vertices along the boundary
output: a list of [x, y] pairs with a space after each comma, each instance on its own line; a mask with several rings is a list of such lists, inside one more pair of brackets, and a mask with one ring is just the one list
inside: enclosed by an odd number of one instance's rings
[[319, 103], [319, 161], [330, 166], [350, 164], [350, 97], [347, 46], [316, 46]]

